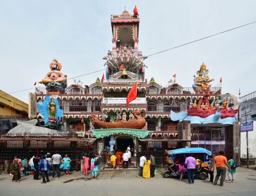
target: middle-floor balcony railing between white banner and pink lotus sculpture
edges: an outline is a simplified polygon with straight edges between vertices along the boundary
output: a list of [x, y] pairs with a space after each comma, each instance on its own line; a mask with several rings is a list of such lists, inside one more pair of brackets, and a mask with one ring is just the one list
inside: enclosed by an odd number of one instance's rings
[[159, 106], [159, 105], [148, 105], [148, 112], [181, 112], [186, 111], [189, 108], [189, 105], [168, 105], [168, 106]]

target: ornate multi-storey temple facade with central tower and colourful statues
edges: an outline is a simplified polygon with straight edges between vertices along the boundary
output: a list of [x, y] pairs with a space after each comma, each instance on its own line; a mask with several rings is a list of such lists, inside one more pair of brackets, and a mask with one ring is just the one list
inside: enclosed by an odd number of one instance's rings
[[[106, 49], [103, 57], [106, 68], [103, 77], [100, 74], [91, 83], [75, 79], [67, 84], [66, 75], [61, 73], [62, 65], [54, 59], [51, 71], [40, 81], [45, 88], [36, 88], [37, 105], [52, 97], [58, 106], [50, 107], [49, 102], [49, 108], [62, 110], [61, 130], [72, 133], [74, 138], [88, 138], [86, 142], [90, 142], [85, 145], [73, 139], [71, 144], [78, 142], [73, 147], [80, 145], [85, 151], [93, 150], [103, 156], [104, 151], [125, 150], [130, 146], [137, 162], [142, 154], [152, 152], [159, 157], [157, 164], [161, 165], [167, 149], [203, 147], [213, 155], [223, 150], [238, 160], [240, 124], [236, 107], [239, 100], [232, 94], [222, 94], [221, 85], [211, 86], [214, 79], [209, 78], [204, 63], [195, 70], [196, 75], [191, 77], [193, 84], [188, 87], [178, 84], [175, 77], [162, 86], [154, 76], [146, 76], [149, 59], [139, 50], [139, 21], [138, 15], [128, 11], [111, 16], [112, 49]], [[127, 107], [126, 97], [136, 82], [137, 98]], [[45, 120], [38, 108], [31, 113]], [[49, 121], [58, 122], [53, 117]], [[129, 124], [134, 119], [145, 120], [145, 125], [139, 129], [112, 128], [112, 124]]]

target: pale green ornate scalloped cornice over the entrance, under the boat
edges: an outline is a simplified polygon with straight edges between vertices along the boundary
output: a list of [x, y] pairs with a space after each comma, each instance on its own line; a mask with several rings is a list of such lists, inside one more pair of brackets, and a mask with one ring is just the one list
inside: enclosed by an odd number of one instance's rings
[[128, 134], [139, 139], [145, 138], [149, 133], [153, 133], [153, 131], [147, 131], [142, 129], [125, 129], [125, 128], [117, 128], [117, 129], [95, 129], [91, 130], [93, 136], [96, 136], [97, 139], [108, 137], [114, 134]]

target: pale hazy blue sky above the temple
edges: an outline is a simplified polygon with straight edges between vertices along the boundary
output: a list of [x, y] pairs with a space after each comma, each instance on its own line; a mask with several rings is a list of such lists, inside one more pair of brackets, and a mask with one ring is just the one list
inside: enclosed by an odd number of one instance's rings
[[[112, 49], [111, 14], [137, 6], [139, 51], [143, 55], [172, 48], [256, 21], [256, 1], [0, 1], [0, 89], [12, 93], [33, 88], [56, 58], [68, 78], [104, 69]], [[165, 86], [192, 87], [204, 62], [212, 86], [222, 77], [222, 93], [241, 96], [256, 91], [256, 23], [148, 57], [145, 78]], [[103, 71], [77, 78], [85, 85]], [[68, 81], [71, 84], [72, 80]], [[40, 85], [40, 84], [39, 84]], [[37, 86], [39, 86], [37, 85]], [[29, 92], [11, 95], [28, 103]]]

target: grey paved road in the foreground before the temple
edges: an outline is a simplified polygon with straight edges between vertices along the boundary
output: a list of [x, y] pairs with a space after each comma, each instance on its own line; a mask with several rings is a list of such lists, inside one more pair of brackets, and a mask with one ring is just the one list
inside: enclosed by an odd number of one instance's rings
[[12, 195], [217, 195], [255, 196], [256, 171], [239, 167], [235, 182], [225, 183], [226, 187], [212, 185], [207, 180], [196, 180], [188, 185], [187, 179], [163, 178], [161, 171], [154, 178], [144, 179], [138, 171], [104, 171], [97, 178], [74, 172], [69, 176], [51, 178], [47, 184], [33, 180], [32, 175], [22, 176], [21, 182], [11, 182], [11, 176], [0, 175], [0, 196]]

